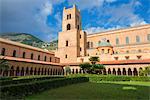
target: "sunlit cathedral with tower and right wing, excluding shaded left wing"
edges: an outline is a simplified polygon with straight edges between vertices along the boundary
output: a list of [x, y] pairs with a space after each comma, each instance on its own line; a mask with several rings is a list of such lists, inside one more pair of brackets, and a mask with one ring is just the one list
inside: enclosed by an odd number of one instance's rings
[[72, 73], [81, 70], [80, 63], [97, 56], [98, 63], [105, 65], [104, 74], [138, 75], [140, 69], [150, 66], [150, 25], [88, 34], [82, 30], [77, 7], [64, 7], [55, 53]]

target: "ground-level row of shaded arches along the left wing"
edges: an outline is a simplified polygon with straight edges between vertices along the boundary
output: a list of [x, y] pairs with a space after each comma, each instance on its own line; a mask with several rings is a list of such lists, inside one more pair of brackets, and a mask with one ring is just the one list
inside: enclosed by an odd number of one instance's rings
[[9, 70], [0, 70], [1, 76], [27, 76], [27, 75], [63, 75], [63, 69], [33, 68], [11, 66]]

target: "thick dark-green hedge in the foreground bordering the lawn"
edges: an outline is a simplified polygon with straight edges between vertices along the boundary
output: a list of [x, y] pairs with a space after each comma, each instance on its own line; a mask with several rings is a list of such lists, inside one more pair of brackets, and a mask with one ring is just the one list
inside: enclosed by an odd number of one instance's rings
[[57, 88], [74, 83], [88, 82], [87, 77], [76, 77], [76, 78], [60, 78], [54, 80], [43, 80], [32, 83], [21, 83], [12, 84], [8, 86], [0, 87], [1, 98], [15, 97], [22, 98], [23, 96], [37, 93], [46, 89]]

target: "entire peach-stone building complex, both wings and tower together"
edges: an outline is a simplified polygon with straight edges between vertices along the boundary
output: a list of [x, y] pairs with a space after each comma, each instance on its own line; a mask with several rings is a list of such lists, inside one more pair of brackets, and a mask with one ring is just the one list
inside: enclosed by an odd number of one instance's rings
[[79, 64], [95, 56], [105, 66], [102, 74], [136, 76], [150, 66], [150, 25], [88, 34], [74, 5], [63, 9], [54, 52], [0, 38], [0, 53], [0, 59], [9, 63], [9, 69], [0, 69], [2, 76], [63, 75], [66, 66], [72, 73], [82, 73]]

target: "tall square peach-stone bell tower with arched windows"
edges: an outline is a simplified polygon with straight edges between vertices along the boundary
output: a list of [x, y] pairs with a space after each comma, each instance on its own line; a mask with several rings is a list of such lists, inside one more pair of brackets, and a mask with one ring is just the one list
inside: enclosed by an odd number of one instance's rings
[[80, 56], [81, 16], [76, 5], [63, 9], [62, 32], [58, 36], [57, 56], [60, 63], [77, 62]]

